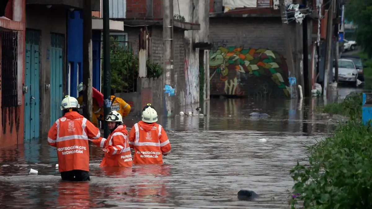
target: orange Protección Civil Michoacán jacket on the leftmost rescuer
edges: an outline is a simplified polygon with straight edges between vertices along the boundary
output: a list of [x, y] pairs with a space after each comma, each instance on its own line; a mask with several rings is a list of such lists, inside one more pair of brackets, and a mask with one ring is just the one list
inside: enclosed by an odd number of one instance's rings
[[67, 112], [48, 132], [48, 144], [57, 148], [58, 170], [89, 171], [88, 139], [102, 139], [99, 129], [77, 112]]

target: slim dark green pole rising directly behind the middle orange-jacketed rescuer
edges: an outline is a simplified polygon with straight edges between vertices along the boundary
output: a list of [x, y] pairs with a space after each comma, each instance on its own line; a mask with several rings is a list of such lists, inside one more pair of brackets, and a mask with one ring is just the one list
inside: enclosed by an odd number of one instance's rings
[[[111, 83], [110, 83], [110, 9], [109, 1], [103, 0], [103, 115], [106, 118], [111, 112]], [[110, 134], [107, 121], [103, 120], [103, 135], [107, 138]]]

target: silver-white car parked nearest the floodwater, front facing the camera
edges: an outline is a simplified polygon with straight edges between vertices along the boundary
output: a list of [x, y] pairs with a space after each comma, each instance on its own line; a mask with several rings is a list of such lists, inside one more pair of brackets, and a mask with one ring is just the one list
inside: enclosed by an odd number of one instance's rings
[[[333, 67], [333, 75], [334, 75], [334, 67]], [[352, 60], [339, 59], [338, 77], [339, 77], [340, 82], [352, 83], [353, 86], [355, 87], [357, 86], [358, 70], [356, 70], [355, 64]]]

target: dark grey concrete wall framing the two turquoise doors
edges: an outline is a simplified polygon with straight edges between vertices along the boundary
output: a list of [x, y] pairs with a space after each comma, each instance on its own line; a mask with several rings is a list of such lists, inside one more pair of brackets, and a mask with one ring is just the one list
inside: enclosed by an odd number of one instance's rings
[[[40, 40], [40, 135], [45, 136], [49, 131], [50, 120], [50, 91], [45, 90], [45, 84], [50, 83], [50, 60], [47, 60], [47, 49], [51, 47], [51, 33], [64, 34], [66, 37], [67, 10], [47, 9], [45, 6], [26, 6], [26, 28], [41, 30]], [[65, 41], [66, 44], [66, 41]], [[65, 47], [66, 49], [66, 47]], [[66, 50], [64, 50], [64, 75], [66, 81]], [[63, 93], [66, 94], [66, 82], [63, 82]]]

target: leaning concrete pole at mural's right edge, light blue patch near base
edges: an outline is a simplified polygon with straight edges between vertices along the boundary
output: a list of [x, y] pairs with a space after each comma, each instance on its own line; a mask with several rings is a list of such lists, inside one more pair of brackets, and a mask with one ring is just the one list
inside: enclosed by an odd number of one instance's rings
[[288, 25], [287, 12], [284, 0], [279, 0], [280, 5], [280, 16], [282, 17], [282, 26], [284, 31], [285, 51], [286, 51], [286, 62], [289, 70], [289, 86], [291, 88], [291, 97], [297, 97], [297, 85], [294, 83], [293, 78], [296, 79], [295, 65], [293, 61], [292, 44], [291, 44], [291, 29]]

